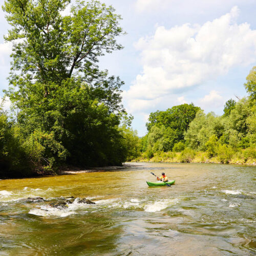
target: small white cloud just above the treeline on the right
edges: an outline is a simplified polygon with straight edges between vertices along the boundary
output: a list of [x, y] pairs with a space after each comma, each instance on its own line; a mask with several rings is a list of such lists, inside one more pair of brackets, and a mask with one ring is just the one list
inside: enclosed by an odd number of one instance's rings
[[223, 107], [225, 99], [219, 94], [219, 92], [212, 90], [208, 95], [199, 99], [198, 103], [203, 109], [209, 107], [220, 108]]

